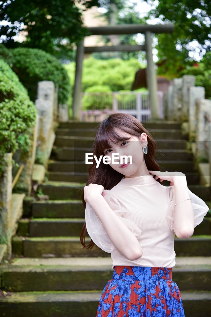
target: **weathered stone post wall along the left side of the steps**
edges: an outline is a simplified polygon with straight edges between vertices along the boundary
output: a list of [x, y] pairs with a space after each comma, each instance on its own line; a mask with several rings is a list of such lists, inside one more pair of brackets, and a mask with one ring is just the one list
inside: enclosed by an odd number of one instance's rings
[[[29, 131], [29, 151], [20, 149], [13, 155], [6, 153], [7, 165], [0, 175], [0, 261], [11, 257], [12, 236], [15, 235], [18, 220], [22, 217], [23, 199], [31, 194], [33, 177], [38, 183], [44, 179], [55, 139], [55, 127], [59, 122], [69, 120], [67, 104], [58, 105], [58, 89], [55, 89], [53, 81], [38, 83], [35, 106], [37, 117], [35, 125]], [[19, 165], [24, 165], [14, 188], [12, 182], [19, 167], [12, 165], [12, 159]], [[34, 171], [42, 175], [42, 179], [37, 179]], [[13, 189], [15, 193], [12, 193]]]

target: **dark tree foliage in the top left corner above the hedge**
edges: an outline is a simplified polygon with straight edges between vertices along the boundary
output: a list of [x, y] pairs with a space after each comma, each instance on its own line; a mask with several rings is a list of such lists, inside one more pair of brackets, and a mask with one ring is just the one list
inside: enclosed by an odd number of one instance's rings
[[[42, 49], [57, 57], [71, 57], [74, 48], [83, 36], [90, 34], [84, 28], [82, 9], [98, 5], [97, 0], [11, 0], [0, 3], [0, 36], [7, 48], [29, 47]], [[22, 29], [24, 26], [24, 29]], [[27, 32], [26, 41], [15, 42], [13, 36], [20, 31]]]

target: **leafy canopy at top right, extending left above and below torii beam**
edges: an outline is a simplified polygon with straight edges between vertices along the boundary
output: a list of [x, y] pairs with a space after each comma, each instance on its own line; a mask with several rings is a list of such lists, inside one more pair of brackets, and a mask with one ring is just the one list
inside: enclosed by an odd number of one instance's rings
[[[114, 14], [110, 4], [115, 4], [116, 24], [152, 23], [149, 19], [154, 20], [156, 24], [174, 23], [172, 33], [155, 34], [157, 40], [154, 42], [157, 42], [155, 48], [158, 50], [158, 59], [166, 60], [162, 68], [158, 69], [158, 74], [159, 72], [175, 74], [181, 67], [185, 68], [187, 65], [192, 65], [193, 61], [197, 61], [198, 55], [202, 58], [210, 50], [211, 6], [208, 5], [208, 1], [99, 0], [99, 2], [107, 10], [104, 15], [108, 21]], [[146, 2], [152, 7], [145, 16], [140, 10], [141, 2]], [[120, 39], [121, 43], [134, 44], [133, 35], [121, 36]], [[109, 42], [108, 37], [106, 41]]]

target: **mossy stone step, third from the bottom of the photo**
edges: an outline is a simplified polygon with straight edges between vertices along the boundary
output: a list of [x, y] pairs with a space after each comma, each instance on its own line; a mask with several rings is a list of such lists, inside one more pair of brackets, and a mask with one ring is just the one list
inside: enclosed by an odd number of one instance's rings
[[[90, 237], [85, 238], [88, 245]], [[177, 256], [210, 256], [211, 236], [191, 236], [187, 239], [175, 237], [174, 250]], [[12, 252], [29, 257], [71, 257], [71, 256], [107, 256], [98, 246], [83, 248], [79, 236], [59, 237], [22, 237], [12, 238]]]

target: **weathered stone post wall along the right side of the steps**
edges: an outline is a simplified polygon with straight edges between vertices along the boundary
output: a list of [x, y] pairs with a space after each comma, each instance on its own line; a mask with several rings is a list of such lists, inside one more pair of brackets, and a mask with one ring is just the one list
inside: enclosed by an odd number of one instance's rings
[[[211, 100], [205, 99], [205, 88], [195, 86], [195, 76], [184, 75], [173, 80], [164, 100], [166, 119], [181, 122], [183, 136], [194, 153], [195, 167], [205, 173], [202, 178], [211, 179]], [[206, 164], [206, 169], [200, 164]]]

